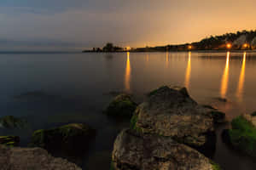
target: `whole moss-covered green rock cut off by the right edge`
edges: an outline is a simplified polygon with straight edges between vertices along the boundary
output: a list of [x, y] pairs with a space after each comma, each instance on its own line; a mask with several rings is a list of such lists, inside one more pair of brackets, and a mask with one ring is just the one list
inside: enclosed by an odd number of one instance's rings
[[250, 156], [256, 156], [256, 117], [238, 116], [231, 122], [231, 129], [222, 133], [226, 144]]

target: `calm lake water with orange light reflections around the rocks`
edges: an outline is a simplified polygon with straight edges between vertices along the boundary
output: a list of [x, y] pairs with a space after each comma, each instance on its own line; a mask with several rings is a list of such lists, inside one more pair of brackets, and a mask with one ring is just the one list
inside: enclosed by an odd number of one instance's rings
[[[26, 146], [34, 130], [69, 122], [97, 129], [83, 169], [109, 169], [113, 141], [129, 121], [102, 114], [113, 94], [133, 94], [140, 102], [149, 90], [180, 85], [201, 104], [224, 111], [229, 120], [256, 111], [256, 53], [0, 54], [0, 116], [26, 118], [29, 127], [0, 129], [19, 135]], [[218, 97], [228, 99], [223, 103]], [[230, 150], [220, 139], [214, 161], [224, 169], [256, 169], [252, 158]]]

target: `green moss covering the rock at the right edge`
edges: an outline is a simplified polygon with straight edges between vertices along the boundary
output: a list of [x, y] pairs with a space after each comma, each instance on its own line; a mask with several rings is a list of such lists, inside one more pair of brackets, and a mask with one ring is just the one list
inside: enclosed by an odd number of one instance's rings
[[231, 144], [237, 149], [255, 156], [256, 151], [256, 128], [243, 116], [239, 116], [231, 122], [230, 129]]

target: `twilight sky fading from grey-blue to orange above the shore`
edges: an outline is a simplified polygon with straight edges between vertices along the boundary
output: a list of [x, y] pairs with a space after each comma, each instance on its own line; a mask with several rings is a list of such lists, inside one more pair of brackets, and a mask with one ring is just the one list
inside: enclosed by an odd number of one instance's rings
[[0, 49], [144, 47], [256, 29], [255, 0], [1, 0]]

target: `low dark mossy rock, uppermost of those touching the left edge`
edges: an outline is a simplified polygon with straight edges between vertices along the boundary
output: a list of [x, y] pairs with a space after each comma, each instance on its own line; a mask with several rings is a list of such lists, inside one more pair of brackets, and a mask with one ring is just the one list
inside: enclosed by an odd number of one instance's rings
[[4, 128], [21, 128], [26, 127], [27, 122], [15, 116], [3, 116], [0, 118], [0, 127]]

